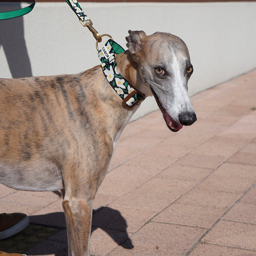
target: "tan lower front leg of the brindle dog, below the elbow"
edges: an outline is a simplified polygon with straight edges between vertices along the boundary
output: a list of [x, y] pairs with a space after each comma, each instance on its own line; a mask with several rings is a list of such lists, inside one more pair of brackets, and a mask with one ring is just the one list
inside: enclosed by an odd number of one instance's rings
[[92, 204], [93, 200], [64, 197], [69, 256], [90, 256]]

